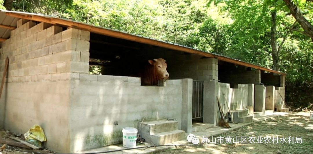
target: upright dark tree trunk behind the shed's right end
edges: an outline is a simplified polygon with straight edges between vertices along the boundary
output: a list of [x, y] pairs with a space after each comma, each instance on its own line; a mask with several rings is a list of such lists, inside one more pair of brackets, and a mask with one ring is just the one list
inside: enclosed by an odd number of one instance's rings
[[279, 54], [276, 48], [276, 10], [272, 12], [272, 26], [271, 26], [271, 46], [273, 58], [273, 70], [279, 70]]

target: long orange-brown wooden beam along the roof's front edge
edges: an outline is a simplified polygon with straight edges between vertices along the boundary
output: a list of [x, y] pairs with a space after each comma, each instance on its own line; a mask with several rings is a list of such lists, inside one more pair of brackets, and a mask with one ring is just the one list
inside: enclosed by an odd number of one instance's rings
[[120, 38], [120, 39], [124, 39], [124, 40], [129, 40], [129, 41], [135, 41], [135, 42], [154, 45], [154, 46], [160, 46], [160, 47], [167, 48], [167, 49], [188, 52], [191, 54], [202, 55], [202, 56], [205, 56], [208, 58], [216, 58], [218, 60], [223, 60], [223, 61], [230, 62], [230, 63], [237, 64], [237, 65], [244, 65], [244, 66], [252, 67], [255, 69], [259, 69], [259, 70], [265, 70], [265, 71], [269, 71], [269, 72], [273, 72], [273, 73], [277, 73], [277, 74], [281, 74], [281, 75], [286, 75], [285, 73], [281, 73], [281, 72], [278, 72], [275, 70], [267, 69], [267, 68], [264, 68], [264, 67], [261, 67], [258, 65], [249, 64], [249, 63], [246, 63], [246, 62], [243, 62], [240, 60], [234, 60], [234, 59], [227, 58], [227, 57], [224, 57], [221, 55], [214, 55], [214, 54], [211, 54], [208, 52], [197, 51], [197, 50], [194, 50], [191, 48], [186, 48], [183, 46], [178, 46], [178, 45], [169, 44], [169, 43], [165, 43], [165, 42], [161, 42], [161, 41], [151, 40], [151, 39], [140, 37], [140, 36], [134, 36], [131, 34], [122, 33], [120, 31], [112, 31], [112, 30], [101, 28], [101, 27], [96, 27], [96, 26], [92, 26], [92, 25], [88, 25], [88, 24], [78, 23], [78, 22], [74, 22], [74, 21], [70, 21], [70, 20], [53, 18], [53, 17], [42, 17], [42, 16], [38, 16], [38, 15], [27, 15], [27, 14], [21, 15], [21, 14], [13, 13], [13, 12], [6, 12], [6, 15], [11, 16], [11, 17], [18, 17], [18, 18], [23, 18], [23, 19], [27, 19], [27, 20], [38, 21], [38, 22], [47, 22], [47, 23], [51, 23], [51, 24], [60, 24], [60, 25], [64, 25], [64, 26], [76, 26], [82, 30], [90, 31], [90, 32], [97, 33], [97, 34], [102, 34], [102, 35], [106, 35], [106, 36], [111, 36], [111, 37], [115, 37], [115, 38]]

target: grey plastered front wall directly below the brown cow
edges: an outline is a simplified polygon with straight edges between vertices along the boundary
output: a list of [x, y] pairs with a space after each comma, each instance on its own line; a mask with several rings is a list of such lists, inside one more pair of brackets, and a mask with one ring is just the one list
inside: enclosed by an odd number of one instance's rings
[[72, 152], [120, 143], [122, 128], [137, 128], [142, 120], [176, 118], [180, 129], [181, 117], [182, 80], [167, 80], [164, 87], [156, 87], [140, 86], [136, 77], [80, 74], [71, 79]]

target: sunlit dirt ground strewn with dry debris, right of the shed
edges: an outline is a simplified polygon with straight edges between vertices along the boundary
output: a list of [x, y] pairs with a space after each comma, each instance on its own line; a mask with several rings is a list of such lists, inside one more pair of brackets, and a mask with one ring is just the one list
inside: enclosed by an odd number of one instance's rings
[[[306, 115], [306, 116], [304, 116]], [[311, 134], [312, 136], [308, 135]], [[224, 140], [218, 142], [217, 137], [224, 137]], [[232, 137], [239, 139], [240, 137], [247, 137], [247, 144], [231, 144], [226, 142], [225, 137]], [[249, 137], [255, 137], [254, 142]], [[256, 139], [258, 137], [263, 137], [263, 143], [258, 143]], [[264, 137], [271, 137], [264, 139]], [[279, 138], [274, 140], [273, 137]], [[281, 138], [294, 137], [294, 141], [288, 142], [286, 139], [284, 143], [281, 142]], [[298, 141], [301, 143], [296, 143], [296, 137], [301, 137]], [[216, 143], [199, 143], [199, 146], [183, 146], [177, 147], [175, 149], [167, 149], [162, 154], [313, 154], [313, 120], [310, 120], [309, 113], [296, 113], [289, 114], [285, 116], [275, 117], [274, 119], [269, 119], [267, 121], [253, 123], [249, 126], [245, 126], [234, 130], [232, 132], [224, 133], [220, 136], [213, 137], [216, 138]], [[266, 140], [266, 142], [265, 142]], [[212, 137], [211, 137], [212, 141]], [[237, 140], [239, 141], [239, 140]], [[200, 142], [203, 142], [200, 139]], [[205, 141], [204, 141], [205, 142]], [[235, 140], [236, 142], [236, 140]], [[243, 141], [244, 142], [244, 141]], [[250, 144], [251, 142], [251, 144]], [[270, 142], [270, 143], [269, 143]], [[292, 144], [294, 143], [294, 144]]]

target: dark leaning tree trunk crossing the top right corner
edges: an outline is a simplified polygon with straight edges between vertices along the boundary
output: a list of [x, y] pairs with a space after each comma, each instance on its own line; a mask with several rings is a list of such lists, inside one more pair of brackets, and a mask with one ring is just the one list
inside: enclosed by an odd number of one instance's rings
[[290, 13], [295, 18], [295, 20], [301, 25], [305, 34], [309, 36], [313, 42], [313, 26], [312, 24], [305, 19], [303, 14], [300, 12], [300, 9], [295, 5], [292, 0], [284, 0], [287, 7], [290, 9]]

